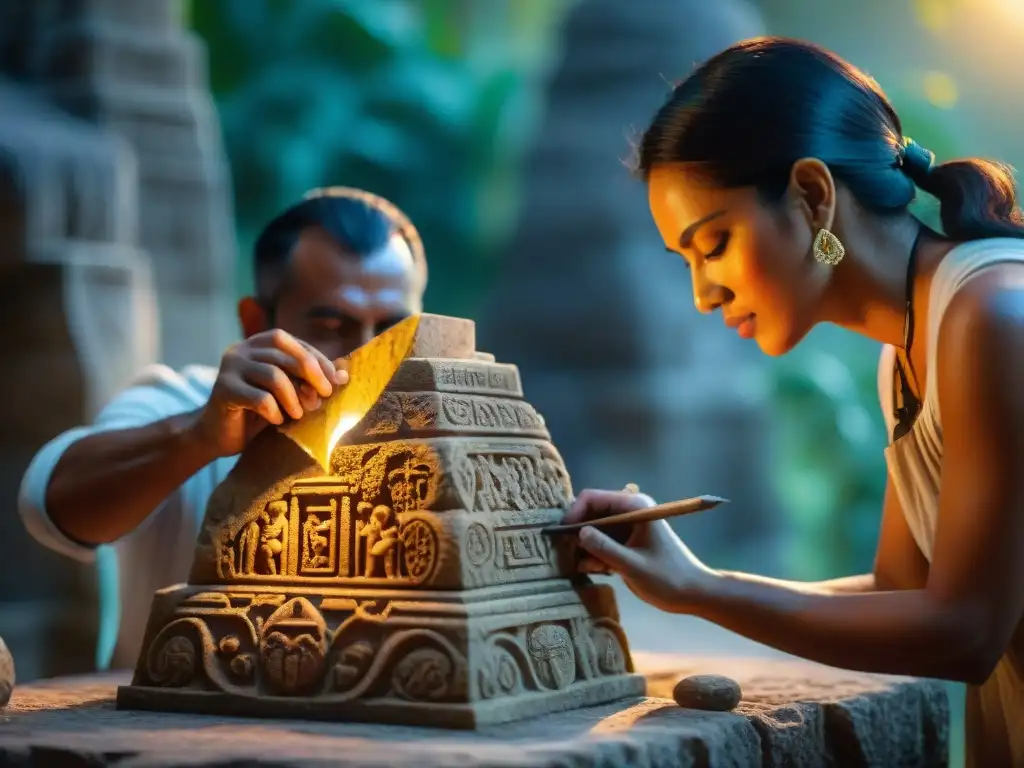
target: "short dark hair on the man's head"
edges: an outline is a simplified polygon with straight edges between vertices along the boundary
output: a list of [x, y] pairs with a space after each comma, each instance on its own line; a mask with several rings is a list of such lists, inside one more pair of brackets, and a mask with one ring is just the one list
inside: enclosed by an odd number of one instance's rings
[[305, 200], [274, 217], [253, 247], [256, 292], [272, 313], [284, 283], [292, 249], [303, 229], [323, 227], [356, 256], [368, 256], [398, 232], [409, 244], [417, 268], [426, 272], [423, 241], [413, 222], [389, 201], [364, 189], [329, 186], [310, 191]]

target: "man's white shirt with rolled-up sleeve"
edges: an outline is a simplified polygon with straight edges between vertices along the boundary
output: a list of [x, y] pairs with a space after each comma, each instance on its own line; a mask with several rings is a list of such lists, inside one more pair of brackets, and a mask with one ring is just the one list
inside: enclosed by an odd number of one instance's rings
[[63, 452], [87, 435], [141, 427], [206, 404], [216, 369], [166, 366], [145, 369], [114, 397], [91, 426], [77, 427], [44, 445], [29, 465], [18, 494], [25, 527], [43, 546], [82, 562], [95, 562], [99, 579], [99, 669], [134, 667], [153, 593], [188, 577], [206, 503], [237, 457], [218, 459], [189, 477], [128, 536], [97, 548], [72, 541], [46, 513], [46, 488]]

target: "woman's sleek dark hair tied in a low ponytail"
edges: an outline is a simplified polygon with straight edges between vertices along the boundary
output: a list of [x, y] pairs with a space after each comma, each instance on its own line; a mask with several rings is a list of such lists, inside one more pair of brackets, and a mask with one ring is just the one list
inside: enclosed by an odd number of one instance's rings
[[946, 237], [1024, 238], [1013, 171], [987, 160], [933, 165], [904, 139], [870, 77], [810, 43], [762, 37], [730, 46], [673, 89], [637, 147], [636, 170], [695, 163], [713, 181], [780, 200], [793, 164], [817, 158], [866, 209], [895, 213], [916, 185], [940, 203]]

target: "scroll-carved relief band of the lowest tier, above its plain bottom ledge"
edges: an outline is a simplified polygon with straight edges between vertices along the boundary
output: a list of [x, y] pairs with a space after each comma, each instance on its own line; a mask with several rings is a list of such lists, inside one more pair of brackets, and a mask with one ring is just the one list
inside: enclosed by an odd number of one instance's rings
[[524, 609], [528, 596], [507, 600], [482, 624], [465, 608], [429, 599], [195, 589], [160, 599], [174, 605], [151, 628], [133, 686], [370, 701], [407, 712], [605, 679], [637, 688], [622, 629], [611, 617], [589, 615], [569, 589], [542, 611]]

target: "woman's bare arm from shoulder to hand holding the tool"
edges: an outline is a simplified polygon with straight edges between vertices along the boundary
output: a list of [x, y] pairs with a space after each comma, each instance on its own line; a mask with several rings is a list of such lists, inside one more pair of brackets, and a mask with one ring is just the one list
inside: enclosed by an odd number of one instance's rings
[[[667, 524], [635, 532], [628, 547], [585, 528], [582, 546], [644, 599], [780, 650], [849, 669], [985, 680], [1024, 612], [1024, 291], [974, 281], [947, 309], [939, 341], [930, 375], [943, 408], [943, 477], [924, 585], [920, 561], [897, 569], [885, 557], [877, 571], [890, 580], [878, 585], [886, 591], [864, 594], [714, 571]], [[915, 586], [896, 591], [901, 579]]]

